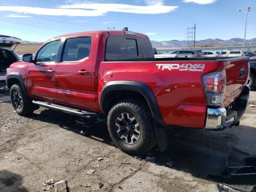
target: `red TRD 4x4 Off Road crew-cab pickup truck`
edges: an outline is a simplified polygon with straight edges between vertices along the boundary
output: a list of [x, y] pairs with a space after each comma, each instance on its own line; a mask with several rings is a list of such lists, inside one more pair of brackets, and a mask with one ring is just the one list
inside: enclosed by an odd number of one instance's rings
[[7, 69], [14, 110], [39, 106], [91, 118], [108, 116], [118, 148], [143, 154], [167, 147], [168, 126], [237, 126], [250, 88], [249, 57], [154, 58], [146, 35], [122, 31], [57, 36]]

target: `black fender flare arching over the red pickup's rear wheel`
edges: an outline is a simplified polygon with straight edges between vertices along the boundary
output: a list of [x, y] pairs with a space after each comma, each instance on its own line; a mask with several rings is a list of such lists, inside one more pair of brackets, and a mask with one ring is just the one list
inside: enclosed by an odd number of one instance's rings
[[102, 88], [102, 92], [100, 94], [100, 109], [103, 111], [103, 104], [105, 98], [109, 92], [114, 90], [130, 90], [139, 92], [146, 99], [152, 116], [156, 123], [160, 126], [166, 126], [164, 119], [162, 117], [162, 113], [156, 101], [156, 97], [152, 92], [151, 88], [143, 83], [138, 81], [110, 81], [104, 85]]

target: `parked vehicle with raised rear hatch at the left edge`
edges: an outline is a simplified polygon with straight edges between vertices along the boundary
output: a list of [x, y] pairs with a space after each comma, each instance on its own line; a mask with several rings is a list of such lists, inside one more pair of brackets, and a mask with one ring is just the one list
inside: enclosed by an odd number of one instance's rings
[[14, 62], [20, 61], [20, 57], [14, 49], [12, 50], [12, 46], [19, 44], [22, 42], [21, 39], [0, 35], [0, 84], [6, 84], [5, 82], [5, 74], [6, 69]]

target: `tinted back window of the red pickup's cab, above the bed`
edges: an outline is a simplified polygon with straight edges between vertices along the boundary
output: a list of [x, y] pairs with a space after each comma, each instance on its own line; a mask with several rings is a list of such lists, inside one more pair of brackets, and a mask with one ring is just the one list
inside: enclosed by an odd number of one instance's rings
[[151, 42], [146, 38], [126, 38], [110, 36], [106, 42], [106, 60], [128, 60], [154, 58]]

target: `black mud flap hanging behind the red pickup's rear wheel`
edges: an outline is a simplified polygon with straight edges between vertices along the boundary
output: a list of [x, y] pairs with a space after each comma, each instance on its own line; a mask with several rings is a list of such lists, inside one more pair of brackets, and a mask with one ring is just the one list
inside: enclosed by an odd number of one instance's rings
[[156, 122], [154, 122], [154, 127], [159, 150], [163, 152], [168, 147], [167, 129], [166, 127], [158, 126]]

